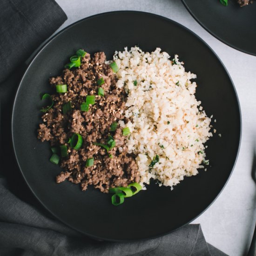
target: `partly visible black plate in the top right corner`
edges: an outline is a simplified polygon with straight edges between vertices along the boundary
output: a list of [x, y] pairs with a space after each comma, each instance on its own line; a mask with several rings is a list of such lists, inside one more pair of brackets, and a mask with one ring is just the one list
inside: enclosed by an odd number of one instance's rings
[[256, 55], [256, 2], [240, 7], [236, 0], [182, 0], [189, 13], [210, 34], [241, 52]]

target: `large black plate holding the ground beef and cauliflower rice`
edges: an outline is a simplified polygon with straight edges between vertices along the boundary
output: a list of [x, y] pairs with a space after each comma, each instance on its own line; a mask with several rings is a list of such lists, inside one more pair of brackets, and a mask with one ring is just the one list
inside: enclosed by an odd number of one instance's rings
[[[49, 92], [48, 78], [61, 72], [78, 48], [89, 53], [139, 45], [179, 54], [185, 67], [198, 75], [196, 96], [214, 115], [214, 136], [206, 150], [208, 171], [185, 178], [173, 191], [152, 182], [146, 191], [116, 207], [111, 196], [70, 182], [55, 183], [61, 168], [49, 162], [47, 142], [36, 138], [40, 94]], [[58, 219], [82, 233], [112, 241], [160, 236], [191, 222], [219, 195], [227, 182], [240, 143], [241, 118], [235, 88], [222, 62], [195, 34], [172, 20], [141, 12], [113, 12], [80, 20], [54, 36], [31, 61], [13, 107], [13, 145], [20, 170], [40, 202]]]

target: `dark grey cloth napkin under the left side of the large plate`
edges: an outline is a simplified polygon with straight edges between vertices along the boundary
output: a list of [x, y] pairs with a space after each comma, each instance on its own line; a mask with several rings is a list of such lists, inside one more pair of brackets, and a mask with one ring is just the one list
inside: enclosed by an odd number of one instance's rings
[[0, 255], [225, 255], [206, 243], [199, 224], [147, 241], [100, 242], [65, 226], [42, 208], [15, 162], [10, 132], [11, 106], [26, 68], [24, 61], [67, 16], [54, 0], [1, 0], [0, 9]]

